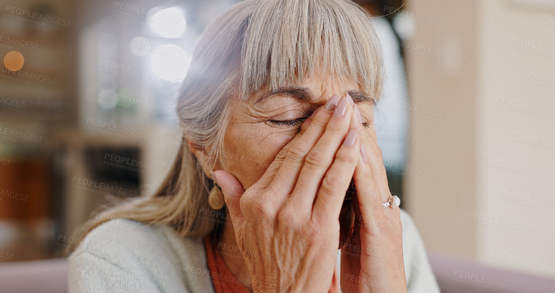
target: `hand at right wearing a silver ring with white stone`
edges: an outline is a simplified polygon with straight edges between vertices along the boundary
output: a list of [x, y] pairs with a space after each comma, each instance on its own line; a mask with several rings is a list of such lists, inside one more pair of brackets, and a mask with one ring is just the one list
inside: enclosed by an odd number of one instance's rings
[[407, 292], [401, 212], [383, 207], [391, 193], [374, 127], [357, 127], [363, 148], [356, 166], [355, 223], [341, 248], [341, 291]]

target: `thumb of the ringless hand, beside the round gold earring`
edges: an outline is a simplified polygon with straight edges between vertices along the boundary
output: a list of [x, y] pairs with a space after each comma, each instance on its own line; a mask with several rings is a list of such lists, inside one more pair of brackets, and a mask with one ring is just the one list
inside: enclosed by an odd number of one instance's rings
[[221, 192], [224, 193], [224, 200], [231, 216], [231, 222], [233, 222], [235, 232], [238, 232], [241, 225], [245, 222], [240, 205], [240, 199], [244, 192], [243, 185], [241, 185], [235, 176], [224, 170], [214, 171], [213, 176], [218, 186], [220, 186]]

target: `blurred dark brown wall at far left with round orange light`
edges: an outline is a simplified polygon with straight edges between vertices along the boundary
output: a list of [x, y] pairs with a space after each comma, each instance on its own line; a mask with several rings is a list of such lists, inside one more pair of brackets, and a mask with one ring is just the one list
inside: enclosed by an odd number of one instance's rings
[[[0, 262], [59, 249], [52, 239], [64, 211], [54, 152], [77, 118], [74, 4], [0, 1], [0, 254], [11, 255]], [[14, 51], [19, 58], [6, 57]]]

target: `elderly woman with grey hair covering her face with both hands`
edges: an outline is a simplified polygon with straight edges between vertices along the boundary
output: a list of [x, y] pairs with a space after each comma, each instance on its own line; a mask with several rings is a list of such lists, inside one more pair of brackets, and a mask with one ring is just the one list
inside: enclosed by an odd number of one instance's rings
[[344, 0], [217, 18], [180, 91], [172, 171], [89, 225], [69, 291], [439, 292], [376, 145], [377, 43]]

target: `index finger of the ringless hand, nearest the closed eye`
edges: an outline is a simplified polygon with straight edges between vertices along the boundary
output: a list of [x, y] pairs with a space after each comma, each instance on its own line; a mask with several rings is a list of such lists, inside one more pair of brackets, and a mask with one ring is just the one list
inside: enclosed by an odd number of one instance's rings
[[292, 192], [307, 153], [309, 153], [326, 130], [326, 125], [333, 113], [332, 110], [334, 110], [340, 98], [339, 95], [332, 96], [326, 102], [324, 108], [316, 113], [314, 120], [307, 126], [304, 134], [298, 140], [294, 139], [290, 142], [289, 151], [275, 173], [274, 180], [270, 183], [269, 187], [272, 190], [279, 190], [282, 194], [290, 194]]

